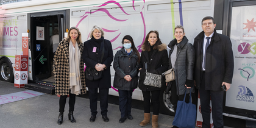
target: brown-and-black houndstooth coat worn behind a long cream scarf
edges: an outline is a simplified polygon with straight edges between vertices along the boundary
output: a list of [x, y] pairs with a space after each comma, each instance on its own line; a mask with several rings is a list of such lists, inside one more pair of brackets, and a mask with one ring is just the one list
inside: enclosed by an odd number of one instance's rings
[[[86, 93], [84, 62], [82, 52], [84, 49], [83, 43], [79, 43], [81, 54], [80, 60], [80, 79], [82, 84], [81, 94]], [[65, 96], [69, 94], [69, 42], [67, 39], [60, 41], [58, 48], [54, 54], [53, 73], [55, 76], [55, 93]]]

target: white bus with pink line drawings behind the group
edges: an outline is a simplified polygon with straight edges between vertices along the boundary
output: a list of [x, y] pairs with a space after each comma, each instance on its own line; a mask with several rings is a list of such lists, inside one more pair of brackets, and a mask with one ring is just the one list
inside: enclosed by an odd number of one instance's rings
[[[28, 79], [54, 83], [54, 43], [50, 39], [55, 30], [59, 31], [60, 41], [70, 27], [76, 26], [82, 33], [82, 41], [87, 41], [91, 28], [98, 25], [112, 42], [113, 54], [122, 48], [124, 35], [131, 35], [141, 52], [150, 30], [158, 30], [162, 42], [169, 44], [177, 25], [185, 28], [186, 37], [193, 44], [194, 37], [202, 31], [201, 20], [205, 16], [215, 18], [216, 30], [229, 36], [233, 45], [235, 69], [232, 87], [225, 93], [223, 115], [252, 119], [249, 116], [256, 115], [256, 1], [32, 0], [0, 5], [0, 80], [13, 82], [15, 55], [22, 52], [23, 33], [29, 35]], [[38, 38], [38, 33], [43, 35]], [[114, 74], [112, 67], [112, 84]], [[118, 96], [113, 87], [109, 94]], [[160, 97], [162, 113], [174, 115], [170, 95], [162, 90]], [[132, 98], [142, 101], [141, 90], [135, 89]]]

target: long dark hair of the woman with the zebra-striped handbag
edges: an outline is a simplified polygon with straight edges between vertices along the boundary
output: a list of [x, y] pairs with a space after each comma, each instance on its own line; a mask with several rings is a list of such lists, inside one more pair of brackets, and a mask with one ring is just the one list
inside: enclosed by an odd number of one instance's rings
[[148, 39], [149, 39], [149, 34], [151, 34], [151, 33], [153, 33], [153, 32], [154, 32], [155, 34], [157, 34], [157, 42], [155, 42], [153, 49], [154, 49], [154, 50], [155, 50], [155, 49], [158, 49], [158, 45], [162, 44], [162, 41], [161, 41], [160, 38], [159, 38], [159, 34], [158, 34], [157, 30], [151, 30], [151, 31], [148, 33], [148, 35], [146, 36], [146, 38], [145, 38], [145, 40], [144, 40], [144, 43], [143, 43], [143, 46], [144, 46], [145, 51], [151, 51], [151, 49], [150, 49], [150, 44], [149, 44]]

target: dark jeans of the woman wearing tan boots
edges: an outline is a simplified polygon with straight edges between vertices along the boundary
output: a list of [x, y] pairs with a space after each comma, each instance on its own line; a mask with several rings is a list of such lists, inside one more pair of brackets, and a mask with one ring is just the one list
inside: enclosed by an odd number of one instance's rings
[[155, 90], [155, 91], [142, 91], [143, 98], [144, 98], [144, 113], [150, 113], [150, 100], [153, 104], [153, 115], [159, 114], [160, 109], [160, 91], [161, 90]]

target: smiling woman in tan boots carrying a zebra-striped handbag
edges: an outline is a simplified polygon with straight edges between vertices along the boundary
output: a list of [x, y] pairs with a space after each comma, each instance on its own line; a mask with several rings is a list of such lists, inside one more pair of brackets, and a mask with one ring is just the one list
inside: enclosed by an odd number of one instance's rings
[[141, 46], [141, 60], [138, 69], [140, 71], [140, 80], [138, 87], [142, 90], [144, 98], [144, 120], [140, 126], [146, 126], [150, 123], [150, 107], [153, 104], [152, 127], [158, 127], [158, 113], [160, 108], [160, 91], [165, 86], [165, 80], [162, 79], [162, 88], [144, 85], [145, 63], [148, 65], [148, 73], [162, 74], [168, 69], [168, 53], [166, 44], [163, 44], [157, 31], [151, 30]]

